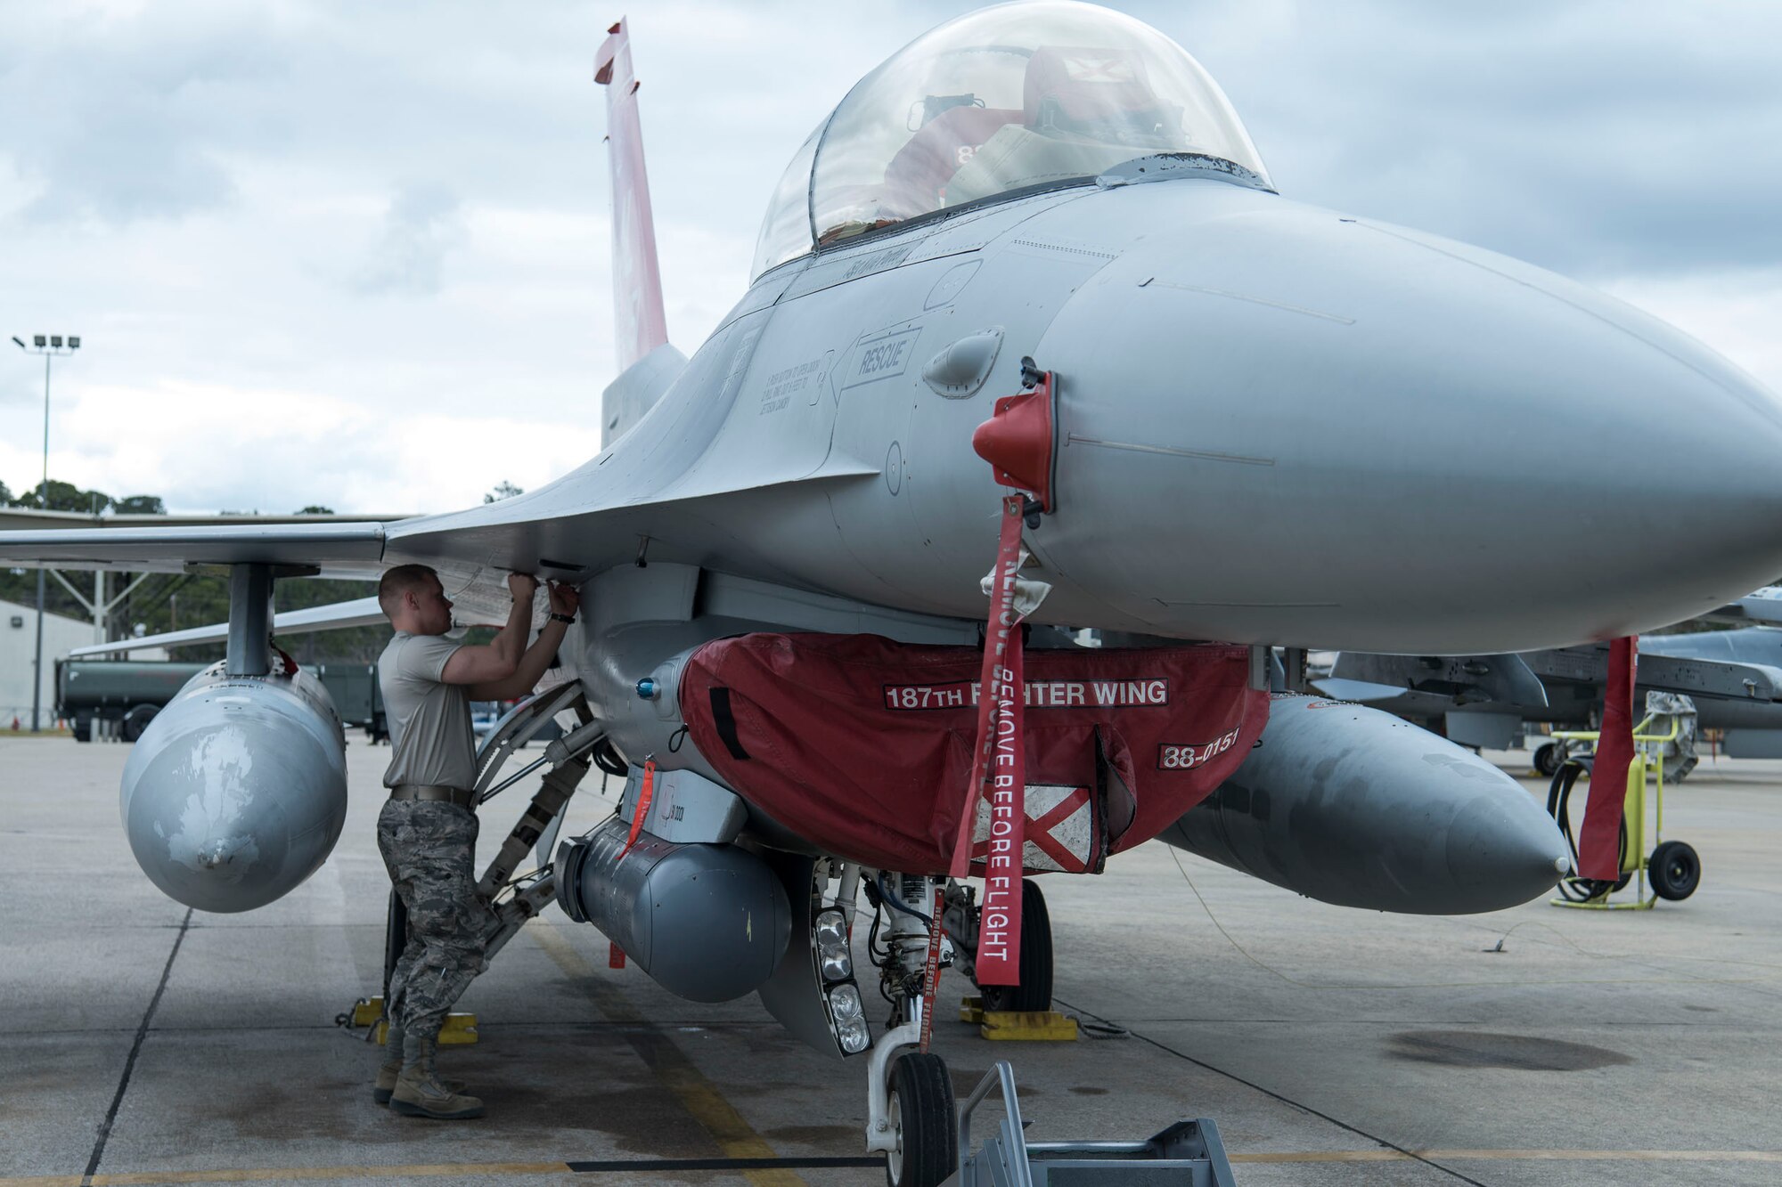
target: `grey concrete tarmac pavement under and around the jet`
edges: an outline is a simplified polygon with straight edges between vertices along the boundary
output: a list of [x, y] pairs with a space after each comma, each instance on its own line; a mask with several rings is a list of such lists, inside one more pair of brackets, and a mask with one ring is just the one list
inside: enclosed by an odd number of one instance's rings
[[[442, 1055], [488, 1116], [378, 1109], [378, 1048], [335, 1016], [381, 980], [388, 750], [351, 743], [333, 857], [239, 916], [141, 875], [127, 754], [0, 736], [0, 1187], [884, 1182], [834, 1166], [862, 1157], [864, 1060], [809, 1052], [752, 996], [609, 970], [554, 909], [460, 1003], [479, 1041]], [[485, 809], [485, 850], [527, 797]], [[572, 831], [609, 811], [583, 797]], [[1244, 1187], [1782, 1183], [1782, 763], [1704, 761], [1664, 823], [1702, 889], [1639, 913], [1367, 914], [1151, 843], [1042, 880], [1057, 1007], [1117, 1037], [989, 1043], [943, 1009], [936, 1050], [960, 1096], [1010, 1059], [1035, 1141], [1214, 1117]], [[943, 1005], [968, 989], [943, 978]], [[670, 1169], [736, 1158], [832, 1166]]]

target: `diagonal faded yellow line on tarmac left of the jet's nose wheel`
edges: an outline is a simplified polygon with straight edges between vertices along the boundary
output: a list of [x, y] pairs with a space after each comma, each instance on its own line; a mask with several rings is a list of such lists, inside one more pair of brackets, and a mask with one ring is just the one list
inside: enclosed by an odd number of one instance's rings
[[[593, 966], [563, 939], [561, 932], [547, 920], [531, 920], [526, 925], [540, 948], [545, 950], [560, 970], [570, 975], [576, 986], [588, 995], [609, 1021], [625, 1025], [625, 1041], [649, 1066], [656, 1078], [674, 1093], [681, 1107], [711, 1134], [718, 1148], [729, 1158], [777, 1158], [779, 1151], [764, 1137], [750, 1128], [743, 1114], [723, 1098], [723, 1093], [693, 1066], [674, 1039], [650, 1025], [631, 1000], [609, 986], [595, 973]], [[743, 1171], [745, 1178], [757, 1187], [805, 1187], [805, 1182], [791, 1171]], [[5, 1187], [0, 1183], [0, 1187]]]

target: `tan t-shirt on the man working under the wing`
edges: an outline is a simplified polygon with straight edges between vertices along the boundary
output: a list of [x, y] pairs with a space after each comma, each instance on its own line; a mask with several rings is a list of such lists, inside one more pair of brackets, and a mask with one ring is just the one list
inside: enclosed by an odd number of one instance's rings
[[462, 645], [444, 634], [397, 631], [378, 656], [378, 686], [390, 725], [390, 770], [383, 772], [383, 786], [476, 784], [470, 697], [463, 684], [440, 683], [446, 661]]

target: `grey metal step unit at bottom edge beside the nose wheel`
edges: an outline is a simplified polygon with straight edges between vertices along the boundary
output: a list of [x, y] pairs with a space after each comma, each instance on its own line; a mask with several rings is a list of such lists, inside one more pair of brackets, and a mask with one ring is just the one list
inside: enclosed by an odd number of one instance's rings
[[[971, 1114], [998, 1085], [1003, 1117], [971, 1153]], [[943, 1187], [1237, 1187], [1208, 1117], [1176, 1121], [1142, 1142], [1028, 1142], [1021, 1130], [1014, 1068], [996, 1060], [959, 1107], [959, 1173]]]

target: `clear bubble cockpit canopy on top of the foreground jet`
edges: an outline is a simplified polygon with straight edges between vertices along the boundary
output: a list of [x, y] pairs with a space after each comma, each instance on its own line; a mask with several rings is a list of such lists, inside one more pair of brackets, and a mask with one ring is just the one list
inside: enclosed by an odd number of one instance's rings
[[1149, 25], [1089, 4], [946, 21], [861, 78], [791, 159], [750, 276], [905, 219], [1155, 153], [1269, 175], [1219, 84]]

